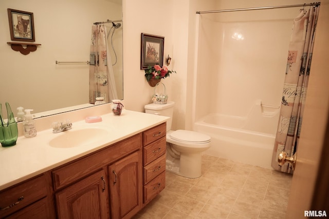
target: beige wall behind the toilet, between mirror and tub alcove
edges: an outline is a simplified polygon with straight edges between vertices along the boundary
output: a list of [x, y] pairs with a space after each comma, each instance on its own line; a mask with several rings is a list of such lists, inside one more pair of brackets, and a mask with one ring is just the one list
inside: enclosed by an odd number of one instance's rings
[[[177, 6], [177, 7], [176, 7]], [[180, 11], [178, 12], [177, 9]], [[140, 70], [141, 33], [165, 37], [163, 56], [170, 55], [169, 69], [175, 70], [162, 79], [166, 85], [168, 101], [176, 102], [175, 117], [184, 118], [186, 102], [186, 53], [188, 1], [123, 0], [124, 28], [124, 102], [125, 108], [144, 112], [151, 103], [154, 88], [149, 86]], [[177, 17], [177, 18], [176, 18]], [[161, 91], [162, 86], [159, 86]], [[176, 120], [177, 121], [177, 120]], [[179, 120], [180, 121], [180, 120]], [[173, 124], [174, 125], [174, 124]]]

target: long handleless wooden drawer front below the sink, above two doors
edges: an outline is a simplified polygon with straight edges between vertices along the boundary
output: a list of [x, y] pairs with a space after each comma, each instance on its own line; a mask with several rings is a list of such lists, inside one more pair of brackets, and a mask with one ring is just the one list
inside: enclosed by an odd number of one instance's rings
[[78, 161], [52, 171], [54, 190], [67, 186], [88, 174], [142, 148], [142, 134], [111, 145]]

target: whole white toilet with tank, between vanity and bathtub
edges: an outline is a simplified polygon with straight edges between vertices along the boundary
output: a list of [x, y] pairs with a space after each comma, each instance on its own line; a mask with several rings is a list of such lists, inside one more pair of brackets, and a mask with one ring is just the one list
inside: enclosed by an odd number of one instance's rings
[[201, 176], [202, 152], [210, 148], [210, 136], [188, 130], [171, 130], [174, 102], [145, 105], [145, 113], [168, 116], [166, 170], [188, 178]]

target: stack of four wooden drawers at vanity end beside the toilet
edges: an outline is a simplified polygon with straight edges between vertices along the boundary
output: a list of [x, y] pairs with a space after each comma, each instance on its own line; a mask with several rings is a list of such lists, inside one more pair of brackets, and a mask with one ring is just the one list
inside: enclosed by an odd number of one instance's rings
[[143, 203], [166, 186], [166, 123], [143, 132]]

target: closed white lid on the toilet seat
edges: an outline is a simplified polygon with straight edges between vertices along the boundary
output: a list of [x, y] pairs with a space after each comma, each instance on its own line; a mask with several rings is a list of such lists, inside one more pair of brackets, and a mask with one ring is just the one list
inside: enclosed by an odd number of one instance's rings
[[188, 143], [208, 143], [210, 142], [210, 136], [195, 131], [177, 130], [170, 133], [170, 137], [173, 140], [179, 142]]

